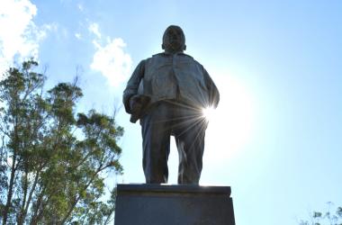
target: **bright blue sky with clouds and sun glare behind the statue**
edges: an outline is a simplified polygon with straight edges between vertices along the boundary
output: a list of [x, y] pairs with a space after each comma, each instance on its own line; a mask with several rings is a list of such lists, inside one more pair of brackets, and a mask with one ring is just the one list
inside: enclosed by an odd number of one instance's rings
[[[290, 225], [342, 205], [342, 1], [0, 0], [0, 70], [33, 56], [48, 86], [80, 77], [77, 111], [112, 113], [170, 24], [220, 104], [201, 184], [232, 188], [238, 225]], [[139, 123], [121, 108], [124, 175], [143, 183]], [[169, 183], [176, 183], [172, 142]]]

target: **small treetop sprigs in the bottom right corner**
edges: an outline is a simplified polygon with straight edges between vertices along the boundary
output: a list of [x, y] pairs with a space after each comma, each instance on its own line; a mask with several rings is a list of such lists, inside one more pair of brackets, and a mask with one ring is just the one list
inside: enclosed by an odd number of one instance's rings
[[301, 220], [300, 225], [342, 225], [342, 207], [331, 212], [332, 202], [328, 202], [329, 209], [326, 212], [313, 211], [310, 220]]

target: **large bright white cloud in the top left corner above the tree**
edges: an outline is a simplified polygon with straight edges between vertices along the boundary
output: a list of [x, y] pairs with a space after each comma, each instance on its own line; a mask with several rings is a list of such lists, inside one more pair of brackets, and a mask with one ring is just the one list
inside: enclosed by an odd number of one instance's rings
[[38, 58], [39, 41], [52, 29], [32, 22], [37, 7], [30, 0], [2, 0], [0, 7], [0, 73], [16, 61]]

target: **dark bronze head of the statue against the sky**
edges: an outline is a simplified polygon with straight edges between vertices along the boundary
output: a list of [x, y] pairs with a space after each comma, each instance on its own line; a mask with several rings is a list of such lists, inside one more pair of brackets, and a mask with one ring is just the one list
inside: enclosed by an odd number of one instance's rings
[[168, 53], [183, 52], [186, 49], [185, 36], [182, 28], [171, 25], [166, 28], [161, 48]]

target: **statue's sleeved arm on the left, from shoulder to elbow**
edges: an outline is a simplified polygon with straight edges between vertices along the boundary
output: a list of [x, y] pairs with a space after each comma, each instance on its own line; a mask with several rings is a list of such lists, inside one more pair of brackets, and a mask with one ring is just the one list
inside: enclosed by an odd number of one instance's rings
[[130, 109], [130, 98], [138, 93], [138, 87], [141, 78], [145, 73], [145, 60], [139, 62], [139, 65], [134, 69], [133, 74], [130, 76], [129, 81], [127, 82], [127, 86], [123, 91], [122, 102], [125, 106], [125, 110], [128, 113], [131, 113]]

